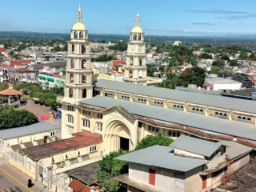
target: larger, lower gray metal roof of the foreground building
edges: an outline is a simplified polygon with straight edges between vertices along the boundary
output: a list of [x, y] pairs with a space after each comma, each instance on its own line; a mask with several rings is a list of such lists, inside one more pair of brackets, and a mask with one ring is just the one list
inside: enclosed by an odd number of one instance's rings
[[143, 150], [124, 154], [115, 159], [182, 172], [192, 170], [207, 163], [205, 160], [175, 156], [173, 150], [170, 146], [150, 146]]

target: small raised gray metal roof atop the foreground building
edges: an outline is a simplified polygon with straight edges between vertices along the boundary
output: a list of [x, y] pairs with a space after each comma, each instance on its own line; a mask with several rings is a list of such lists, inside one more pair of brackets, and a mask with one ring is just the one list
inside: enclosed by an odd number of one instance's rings
[[220, 146], [219, 142], [208, 142], [199, 138], [191, 138], [186, 135], [181, 135], [170, 144], [171, 147], [179, 150], [186, 150], [193, 154], [210, 157]]

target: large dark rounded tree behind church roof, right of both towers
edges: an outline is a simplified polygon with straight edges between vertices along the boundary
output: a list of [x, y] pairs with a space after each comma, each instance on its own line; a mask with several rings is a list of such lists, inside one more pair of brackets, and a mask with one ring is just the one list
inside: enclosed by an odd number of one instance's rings
[[177, 86], [188, 86], [188, 84], [203, 86], [205, 78], [205, 70], [199, 66], [193, 66], [192, 68], [182, 71], [182, 73], [178, 75]]

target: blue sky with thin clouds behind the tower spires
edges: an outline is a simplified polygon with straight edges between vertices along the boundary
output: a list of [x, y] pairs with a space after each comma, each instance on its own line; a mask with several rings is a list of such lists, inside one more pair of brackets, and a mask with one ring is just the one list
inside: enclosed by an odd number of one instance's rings
[[90, 34], [256, 35], [255, 0], [0, 0], [0, 30], [70, 33], [78, 2]]

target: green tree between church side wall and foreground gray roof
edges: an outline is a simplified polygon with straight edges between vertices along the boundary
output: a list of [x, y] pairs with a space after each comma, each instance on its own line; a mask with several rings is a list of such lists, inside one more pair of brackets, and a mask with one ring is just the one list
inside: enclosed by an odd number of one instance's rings
[[141, 142], [138, 142], [138, 146], [136, 146], [135, 150], [142, 150], [149, 146], [170, 146], [170, 143], [174, 142], [173, 139], [167, 138], [162, 134], [158, 134], [156, 136], [148, 135], [146, 138], [142, 138]]

